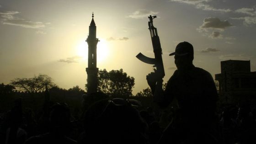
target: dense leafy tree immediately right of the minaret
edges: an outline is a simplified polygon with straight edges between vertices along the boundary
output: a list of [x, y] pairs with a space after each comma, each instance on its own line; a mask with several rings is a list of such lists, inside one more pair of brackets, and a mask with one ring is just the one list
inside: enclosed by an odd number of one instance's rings
[[120, 70], [99, 70], [97, 90], [111, 96], [132, 96], [134, 78]]

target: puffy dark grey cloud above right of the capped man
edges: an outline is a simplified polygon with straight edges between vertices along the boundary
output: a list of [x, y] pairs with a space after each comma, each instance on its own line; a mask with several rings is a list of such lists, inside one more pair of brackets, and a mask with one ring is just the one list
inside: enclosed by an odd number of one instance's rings
[[229, 21], [220, 21], [219, 18], [216, 17], [207, 17], [203, 20], [202, 26], [199, 27], [199, 29], [219, 29], [224, 30], [227, 27], [231, 27]]

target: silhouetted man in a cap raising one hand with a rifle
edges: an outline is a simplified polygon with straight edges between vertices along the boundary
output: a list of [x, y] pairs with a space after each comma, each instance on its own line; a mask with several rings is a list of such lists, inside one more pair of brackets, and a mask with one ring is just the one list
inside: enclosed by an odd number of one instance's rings
[[192, 44], [179, 43], [171, 55], [175, 55], [177, 70], [168, 80], [165, 91], [163, 80], [157, 73], [147, 75], [155, 102], [167, 107], [174, 99], [177, 101], [176, 117], [165, 129], [159, 143], [210, 144], [215, 139], [209, 131], [218, 98], [213, 78], [206, 70], [193, 65]]

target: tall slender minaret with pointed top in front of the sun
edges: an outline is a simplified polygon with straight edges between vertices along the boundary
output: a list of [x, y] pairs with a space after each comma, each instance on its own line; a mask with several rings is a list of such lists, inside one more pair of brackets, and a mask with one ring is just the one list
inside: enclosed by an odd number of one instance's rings
[[88, 68], [86, 68], [88, 94], [97, 91], [97, 74], [99, 71], [99, 68], [97, 68], [97, 43], [99, 42], [99, 39], [96, 38], [96, 25], [93, 17], [94, 14], [92, 13], [89, 36], [86, 39], [86, 42], [88, 43]]

